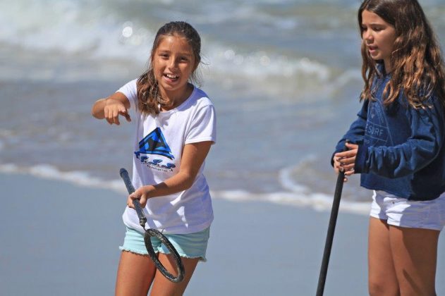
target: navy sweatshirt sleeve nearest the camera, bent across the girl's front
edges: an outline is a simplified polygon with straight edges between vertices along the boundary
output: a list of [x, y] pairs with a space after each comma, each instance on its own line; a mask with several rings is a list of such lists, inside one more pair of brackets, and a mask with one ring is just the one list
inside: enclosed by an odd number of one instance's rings
[[439, 101], [428, 101], [424, 109], [408, 107], [410, 137], [392, 147], [359, 145], [355, 158], [356, 173], [375, 173], [400, 178], [427, 166], [439, 154], [444, 133], [444, 109]]

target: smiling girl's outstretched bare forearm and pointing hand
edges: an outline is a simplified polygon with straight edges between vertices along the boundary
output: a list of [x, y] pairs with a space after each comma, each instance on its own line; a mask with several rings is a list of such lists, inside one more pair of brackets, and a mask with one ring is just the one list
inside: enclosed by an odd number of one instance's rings
[[92, 106], [91, 114], [97, 119], [106, 119], [109, 124], [121, 124], [119, 115], [124, 116], [127, 121], [131, 121], [128, 109], [130, 101], [121, 92], [115, 92], [106, 99], [98, 99]]

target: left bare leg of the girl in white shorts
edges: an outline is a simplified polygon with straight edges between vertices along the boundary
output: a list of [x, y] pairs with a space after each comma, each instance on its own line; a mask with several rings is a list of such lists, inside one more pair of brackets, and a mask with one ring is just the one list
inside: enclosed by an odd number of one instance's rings
[[389, 241], [388, 225], [385, 220], [373, 217], [370, 218], [368, 238], [368, 274], [371, 296], [400, 295]]

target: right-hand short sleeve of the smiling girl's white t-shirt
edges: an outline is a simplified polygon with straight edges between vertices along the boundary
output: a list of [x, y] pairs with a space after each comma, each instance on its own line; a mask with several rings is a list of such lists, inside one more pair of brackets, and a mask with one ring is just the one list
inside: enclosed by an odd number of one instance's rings
[[214, 106], [203, 106], [193, 116], [190, 129], [185, 137], [185, 144], [212, 141], [217, 142], [217, 118]]

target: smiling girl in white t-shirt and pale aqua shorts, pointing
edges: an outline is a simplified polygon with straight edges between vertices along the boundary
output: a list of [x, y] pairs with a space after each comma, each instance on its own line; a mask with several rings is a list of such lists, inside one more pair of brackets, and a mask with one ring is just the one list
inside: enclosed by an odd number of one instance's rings
[[[150, 66], [92, 107], [95, 118], [119, 125], [135, 109], [133, 184], [123, 213], [126, 236], [116, 280], [116, 295], [182, 295], [198, 261], [205, 261], [213, 220], [205, 158], [216, 141], [214, 106], [207, 94], [190, 83], [200, 64], [201, 40], [185, 22], [162, 26], [154, 38]], [[145, 249], [133, 200], [139, 199], [147, 226], [160, 230], [181, 256], [185, 278], [172, 283], [155, 269]], [[154, 238], [161, 264], [175, 273], [168, 249]]]

